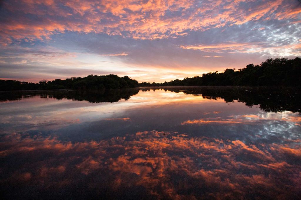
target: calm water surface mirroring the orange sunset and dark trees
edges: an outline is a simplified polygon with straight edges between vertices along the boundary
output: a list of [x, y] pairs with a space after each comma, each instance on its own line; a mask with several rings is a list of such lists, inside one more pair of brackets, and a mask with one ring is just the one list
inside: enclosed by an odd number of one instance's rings
[[0, 93], [5, 198], [296, 199], [300, 92]]

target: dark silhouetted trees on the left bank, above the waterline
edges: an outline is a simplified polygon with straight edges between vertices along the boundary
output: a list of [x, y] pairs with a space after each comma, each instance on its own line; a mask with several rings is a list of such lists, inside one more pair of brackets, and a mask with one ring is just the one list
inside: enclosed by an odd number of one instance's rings
[[18, 80], [0, 80], [0, 91], [37, 90], [37, 89], [120, 89], [139, 87], [137, 80], [128, 76], [119, 77], [115, 74], [106, 76], [89, 75], [87, 77], [42, 80], [39, 83], [21, 82]]

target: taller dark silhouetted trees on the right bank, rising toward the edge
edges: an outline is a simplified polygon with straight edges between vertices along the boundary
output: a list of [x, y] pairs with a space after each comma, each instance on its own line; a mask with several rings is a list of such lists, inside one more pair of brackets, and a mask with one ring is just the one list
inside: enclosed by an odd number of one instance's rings
[[139, 83], [139, 86], [301, 86], [301, 59], [267, 59], [260, 65], [210, 72], [164, 83]]

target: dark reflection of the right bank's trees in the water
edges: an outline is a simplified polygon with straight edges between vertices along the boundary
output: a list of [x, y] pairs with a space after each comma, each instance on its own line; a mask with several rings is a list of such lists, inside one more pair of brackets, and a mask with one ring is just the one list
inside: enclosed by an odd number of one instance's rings
[[[156, 88], [160, 89], [160, 88]], [[299, 87], [249, 87], [249, 86], [202, 86], [202, 87], [170, 87], [165, 91], [184, 92], [184, 94], [202, 95], [202, 98], [224, 99], [225, 102], [242, 102], [246, 106], [259, 105], [266, 112], [292, 111], [301, 114], [301, 92]]]

